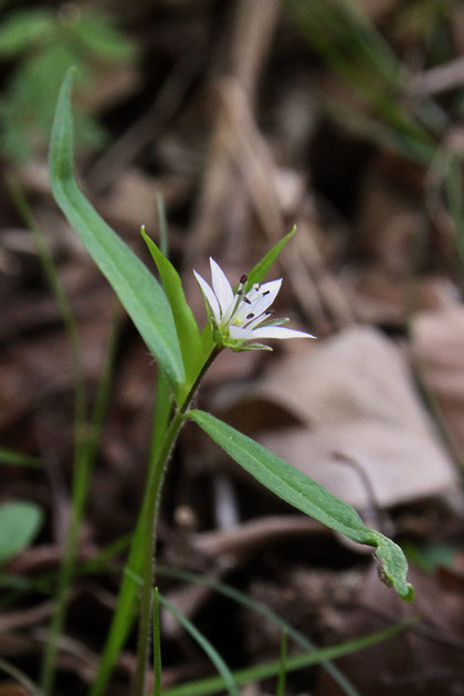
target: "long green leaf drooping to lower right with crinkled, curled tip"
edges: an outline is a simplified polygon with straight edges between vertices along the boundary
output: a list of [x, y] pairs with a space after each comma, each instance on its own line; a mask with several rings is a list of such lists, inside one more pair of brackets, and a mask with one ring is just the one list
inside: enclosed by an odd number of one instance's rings
[[402, 599], [412, 601], [413, 589], [405, 579], [408, 563], [397, 544], [366, 527], [352, 507], [251, 437], [204, 411], [192, 410], [188, 415], [266, 488], [352, 541], [376, 547], [384, 581]]

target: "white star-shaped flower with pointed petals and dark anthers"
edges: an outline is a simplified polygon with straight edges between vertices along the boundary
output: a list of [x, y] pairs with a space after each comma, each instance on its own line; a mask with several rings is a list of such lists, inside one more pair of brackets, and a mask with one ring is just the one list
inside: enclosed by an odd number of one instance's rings
[[282, 278], [270, 283], [257, 283], [246, 294], [244, 287], [246, 275], [240, 278], [239, 287], [233, 292], [224, 272], [210, 259], [212, 287], [193, 271], [213, 321], [214, 340], [220, 347], [229, 347], [233, 350], [246, 350], [261, 348], [272, 350], [262, 344], [245, 344], [261, 338], [315, 338], [305, 331], [283, 328], [288, 319], [274, 319], [270, 309], [281, 289]]

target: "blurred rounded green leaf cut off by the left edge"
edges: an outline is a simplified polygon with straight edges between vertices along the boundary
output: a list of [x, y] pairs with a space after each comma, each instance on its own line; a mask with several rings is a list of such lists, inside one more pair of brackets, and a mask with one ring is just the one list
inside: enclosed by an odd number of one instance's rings
[[30, 500], [0, 504], [0, 563], [27, 548], [43, 520], [41, 508]]

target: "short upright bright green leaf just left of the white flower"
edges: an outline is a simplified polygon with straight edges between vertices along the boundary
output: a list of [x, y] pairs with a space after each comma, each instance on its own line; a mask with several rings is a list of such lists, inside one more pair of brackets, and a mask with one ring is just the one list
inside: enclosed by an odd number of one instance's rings
[[165, 293], [169, 299], [169, 304], [171, 305], [180, 350], [182, 352], [187, 381], [190, 386], [197, 377], [202, 358], [200, 331], [198, 329], [197, 321], [194, 320], [192, 310], [187, 304], [182, 282], [178, 272], [169, 259], [160, 252], [155, 242], [148, 236], [144, 228], [141, 228], [141, 236], [147, 243], [150, 254], [154, 257], [159, 275], [161, 276]]

